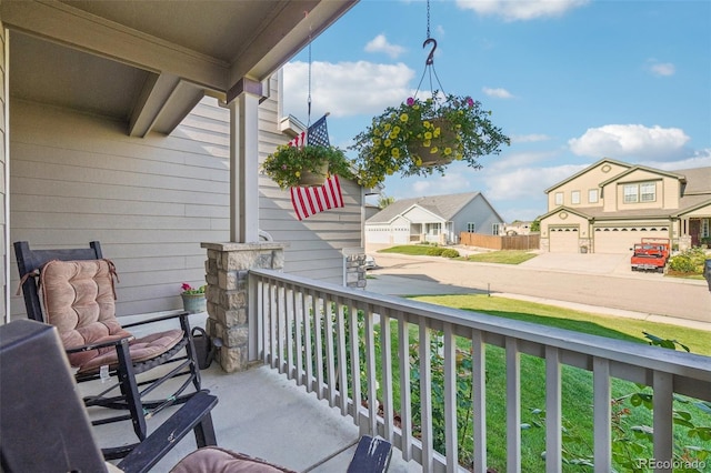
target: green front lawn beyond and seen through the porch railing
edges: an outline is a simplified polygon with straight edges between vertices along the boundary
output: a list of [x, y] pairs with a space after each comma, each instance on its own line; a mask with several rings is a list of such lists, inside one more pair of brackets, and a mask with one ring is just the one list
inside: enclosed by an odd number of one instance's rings
[[[485, 294], [462, 294], [462, 295], [431, 295], [412, 298], [418, 301], [447, 305], [455, 309], [478, 311], [504, 319], [534, 322], [560, 329], [574, 330], [589, 334], [607, 336], [615, 340], [625, 340], [634, 343], [647, 344], [647, 339], [642, 332], [652, 333], [663, 339], [675, 339], [688, 345], [692, 352], [711, 355], [711, 334], [709, 332], [688, 329], [683, 326], [652, 323], [640, 320], [615, 318], [592, 314], [550, 306], [545, 304], [510, 300], [504, 298], [490, 298]], [[377, 335], [379, 336], [379, 335]], [[393, 350], [393, 389], [395, 400], [399, 399], [399, 372], [395, 366], [400, 363], [398, 359], [397, 328], [392, 326], [392, 350]], [[418, 343], [418, 328], [410, 328], [408, 343], [412, 346]], [[459, 349], [468, 353], [471, 342], [468, 339], [458, 341]], [[659, 349], [665, 350], [665, 349]], [[663, 356], [663, 352], [660, 352]], [[505, 352], [498, 346], [487, 346], [487, 429], [488, 429], [488, 459], [489, 466], [497, 471], [507, 470], [507, 446], [505, 446]], [[412, 362], [412, 360], [410, 360]], [[437, 386], [437, 375], [433, 375], [432, 392], [435, 399], [433, 405], [438, 404], [437, 393], [441, 393], [442, 386]], [[522, 471], [543, 471], [544, 463], [541, 453], [545, 450], [545, 432], [540, 424], [540, 419], [533, 413], [534, 410], [545, 407], [545, 363], [543, 360], [527, 354], [521, 354], [521, 422], [528, 427], [521, 432]], [[633, 383], [613, 379], [611, 381], [612, 397], [622, 397], [640, 388]], [[592, 375], [589, 371], [571, 366], [562, 369], [562, 409], [565, 437], [573, 437], [578, 441], [565, 441], [565, 449], [580, 456], [591, 453], [589, 445], [592, 445]], [[395, 401], [399, 402], [399, 401]], [[398, 405], [398, 404], [397, 404]], [[622, 404], [631, 407], [629, 401]], [[677, 405], [677, 409], [680, 406]], [[700, 425], [711, 424], [709, 415], [694, 406], [682, 406], [693, 415], [694, 422]], [[644, 407], [632, 407], [629, 415], [622, 421], [627, 429], [632, 425], [651, 425], [651, 412]], [[463, 441], [464, 446], [460, 452], [471, 451], [471, 432]], [[685, 435], [685, 430], [677, 426], [674, 429], [677, 443], [680, 445], [695, 445], [711, 450], [711, 442], [701, 442], [698, 439], [690, 440]], [[642, 452], [635, 453], [634, 457], [652, 457], [651, 444]], [[579, 466], [564, 465], [564, 472], [589, 471]], [[624, 471], [621, 470], [621, 471]]]

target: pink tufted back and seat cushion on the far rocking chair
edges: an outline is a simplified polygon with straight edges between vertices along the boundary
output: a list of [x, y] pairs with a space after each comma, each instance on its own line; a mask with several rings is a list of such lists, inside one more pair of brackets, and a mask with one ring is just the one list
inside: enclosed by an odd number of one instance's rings
[[[123, 338], [131, 340], [131, 360], [150, 360], [173, 348], [183, 336], [182, 330], [171, 330], [133, 340], [116, 318], [116, 269], [109, 260], [48, 262], [40, 272], [40, 288], [46, 321], [59, 331], [66, 349], [102, 343]], [[80, 372], [114, 368], [118, 363], [113, 346], [72, 353], [72, 366]]]

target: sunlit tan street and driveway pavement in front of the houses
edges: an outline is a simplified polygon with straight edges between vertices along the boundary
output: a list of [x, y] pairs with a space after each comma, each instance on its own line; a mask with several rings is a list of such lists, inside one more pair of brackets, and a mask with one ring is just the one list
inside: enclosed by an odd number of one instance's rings
[[[702, 322], [711, 328], [705, 281], [637, 273], [629, 255], [542, 253], [519, 265], [452, 261], [434, 256], [377, 253], [368, 290], [394, 295], [505, 293], [531, 300], [591, 308], [663, 321]], [[670, 319], [671, 323], [672, 320]]]

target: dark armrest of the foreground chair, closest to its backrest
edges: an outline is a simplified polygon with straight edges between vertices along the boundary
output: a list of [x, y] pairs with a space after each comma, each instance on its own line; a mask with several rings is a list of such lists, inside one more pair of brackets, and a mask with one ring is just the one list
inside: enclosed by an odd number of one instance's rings
[[209, 417], [210, 427], [212, 427], [210, 411], [217, 403], [217, 396], [209, 394], [207, 391], [200, 391], [182, 404], [156, 432], [139, 443], [117, 466], [124, 473], [149, 472], [206, 417]]

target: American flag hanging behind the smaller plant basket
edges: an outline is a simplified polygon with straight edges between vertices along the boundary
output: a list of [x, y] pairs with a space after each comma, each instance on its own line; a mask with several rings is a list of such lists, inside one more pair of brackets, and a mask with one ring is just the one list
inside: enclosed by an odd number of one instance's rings
[[[306, 132], [291, 140], [289, 145], [330, 145], [326, 117], [328, 114], [317, 120]], [[341, 193], [341, 183], [338, 180], [338, 175], [331, 175], [323, 185], [291, 188], [291, 203], [299, 220], [308, 219], [324, 210], [343, 207], [343, 194]]]

